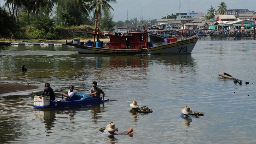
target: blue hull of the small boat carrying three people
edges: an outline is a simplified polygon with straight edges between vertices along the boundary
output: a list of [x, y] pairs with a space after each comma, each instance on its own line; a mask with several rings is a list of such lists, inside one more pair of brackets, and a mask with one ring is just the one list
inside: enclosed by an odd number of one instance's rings
[[[109, 99], [104, 98], [104, 101]], [[87, 100], [70, 100], [70, 101], [50, 101], [49, 106], [34, 106], [34, 108], [59, 108], [59, 107], [72, 107], [72, 106], [88, 106], [94, 104], [100, 104], [102, 102], [101, 98], [91, 98]]]

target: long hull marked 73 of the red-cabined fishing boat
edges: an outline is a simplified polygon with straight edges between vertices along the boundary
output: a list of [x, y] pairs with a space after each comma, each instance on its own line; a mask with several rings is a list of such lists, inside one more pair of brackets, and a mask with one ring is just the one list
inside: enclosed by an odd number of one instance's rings
[[68, 46], [75, 46], [78, 53], [83, 54], [120, 54], [120, 55], [167, 55], [167, 54], [190, 54], [197, 43], [198, 38], [188, 38], [170, 44], [154, 46], [142, 49], [109, 49], [103, 47], [93, 47], [67, 42]]

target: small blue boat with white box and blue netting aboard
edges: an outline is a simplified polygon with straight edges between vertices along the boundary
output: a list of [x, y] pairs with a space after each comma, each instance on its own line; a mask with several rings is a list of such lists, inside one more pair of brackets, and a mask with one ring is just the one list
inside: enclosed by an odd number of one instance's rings
[[[34, 97], [35, 108], [59, 108], [59, 107], [72, 107], [72, 106], [88, 106], [93, 104], [102, 103], [102, 98], [90, 98], [91, 96], [83, 93], [76, 94], [76, 100], [69, 99], [55, 99], [50, 100], [49, 97]], [[104, 102], [108, 101], [104, 98]]]

